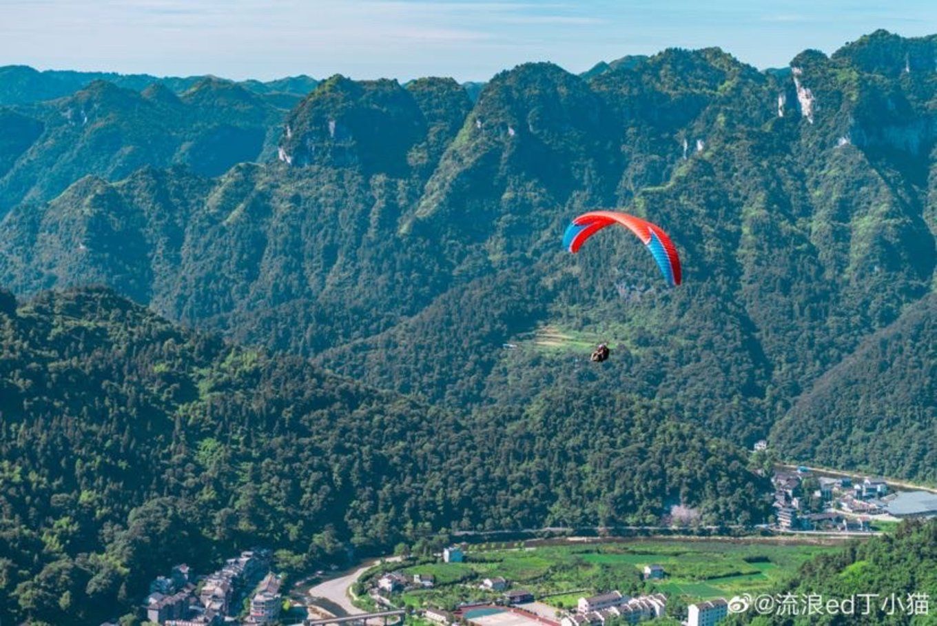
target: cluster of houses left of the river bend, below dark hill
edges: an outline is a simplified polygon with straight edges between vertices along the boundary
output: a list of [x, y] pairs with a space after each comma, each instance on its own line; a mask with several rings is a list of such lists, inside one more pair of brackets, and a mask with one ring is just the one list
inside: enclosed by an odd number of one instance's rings
[[240, 599], [259, 581], [246, 623], [275, 621], [282, 599], [279, 578], [268, 574], [270, 557], [269, 550], [245, 550], [204, 576], [199, 586], [187, 565], [176, 565], [169, 576], [157, 576], [150, 584], [150, 594], [143, 604], [147, 621], [165, 626], [216, 626], [227, 621], [231, 613], [241, 612]]

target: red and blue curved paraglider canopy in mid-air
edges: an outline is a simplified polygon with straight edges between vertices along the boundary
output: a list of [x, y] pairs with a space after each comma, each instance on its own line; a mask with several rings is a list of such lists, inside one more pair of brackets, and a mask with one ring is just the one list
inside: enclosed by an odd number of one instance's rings
[[573, 223], [563, 235], [563, 246], [570, 252], [578, 252], [586, 240], [606, 226], [620, 224], [627, 227], [647, 246], [667, 284], [676, 287], [680, 284], [680, 258], [677, 248], [662, 231], [661, 227], [651, 224], [640, 217], [630, 216], [617, 211], [590, 211], [573, 219]]

